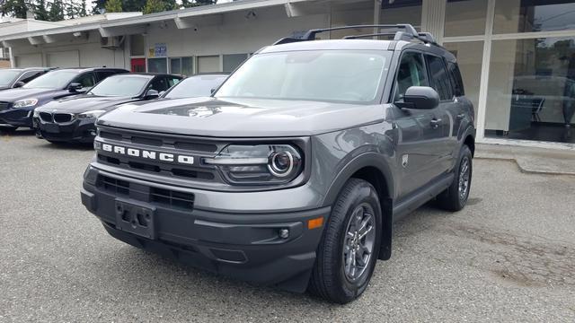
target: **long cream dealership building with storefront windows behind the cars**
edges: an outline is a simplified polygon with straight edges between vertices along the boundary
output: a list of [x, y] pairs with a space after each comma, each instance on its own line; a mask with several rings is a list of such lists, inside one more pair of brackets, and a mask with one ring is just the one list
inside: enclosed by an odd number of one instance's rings
[[378, 23], [411, 23], [456, 55], [478, 142], [575, 149], [575, 0], [240, 0], [4, 22], [0, 45], [17, 67], [197, 74], [231, 72], [259, 48], [309, 29]]

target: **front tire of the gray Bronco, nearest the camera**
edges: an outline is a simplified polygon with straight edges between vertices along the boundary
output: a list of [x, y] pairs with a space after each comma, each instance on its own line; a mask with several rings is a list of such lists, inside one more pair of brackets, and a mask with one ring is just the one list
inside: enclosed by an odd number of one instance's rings
[[[376, 266], [381, 223], [376, 189], [365, 180], [349, 179], [341, 189], [323, 229], [308, 291], [326, 301], [341, 304], [353, 301], [365, 292]], [[356, 230], [362, 224], [364, 229]], [[355, 235], [349, 231], [355, 231]], [[359, 238], [362, 233], [365, 233], [364, 236]], [[361, 256], [357, 255], [358, 252], [361, 252]], [[351, 264], [350, 260], [355, 260], [358, 265], [355, 271], [354, 266], [346, 266], [346, 263]], [[361, 266], [361, 262], [364, 266]]]

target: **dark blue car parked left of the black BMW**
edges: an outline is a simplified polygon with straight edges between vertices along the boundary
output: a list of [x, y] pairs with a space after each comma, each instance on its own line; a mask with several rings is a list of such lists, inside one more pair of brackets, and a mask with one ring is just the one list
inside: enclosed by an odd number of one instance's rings
[[17, 89], [0, 92], [0, 130], [32, 127], [32, 111], [51, 100], [88, 91], [121, 68], [66, 68], [41, 75]]

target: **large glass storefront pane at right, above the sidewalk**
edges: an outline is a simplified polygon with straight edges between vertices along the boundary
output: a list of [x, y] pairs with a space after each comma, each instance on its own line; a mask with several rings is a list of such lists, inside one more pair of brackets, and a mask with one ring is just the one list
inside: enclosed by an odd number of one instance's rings
[[575, 37], [495, 40], [485, 136], [575, 143]]

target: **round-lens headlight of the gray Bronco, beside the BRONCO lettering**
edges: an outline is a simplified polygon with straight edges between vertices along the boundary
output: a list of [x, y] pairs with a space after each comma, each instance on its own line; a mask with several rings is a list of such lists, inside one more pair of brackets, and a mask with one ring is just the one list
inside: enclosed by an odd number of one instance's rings
[[296, 179], [304, 167], [302, 155], [289, 144], [230, 144], [204, 162], [217, 166], [224, 178], [236, 185], [285, 184]]

